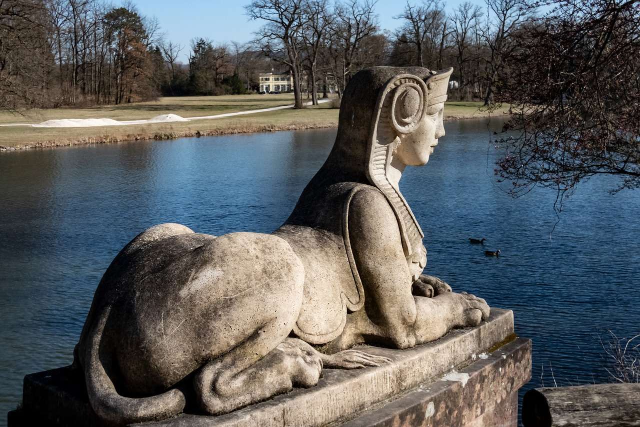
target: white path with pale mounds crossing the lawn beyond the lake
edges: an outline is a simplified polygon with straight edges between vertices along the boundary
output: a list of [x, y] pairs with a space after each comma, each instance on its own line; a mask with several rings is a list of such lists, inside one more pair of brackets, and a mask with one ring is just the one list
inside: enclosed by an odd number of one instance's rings
[[[318, 99], [318, 103], [327, 103], [331, 99]], [[312, 105], [309, 101], [305, 105]], [[186, 122], [192, 120], [209, 120], [209, 119], [221, 119], [222, 117], [233, 117], [234, 115], [264, 113], [275, 110], [285, 110], [287, 108], [293, 108], [294, 105], [281, 105], [270, 108], [260, 108], [259, 110], [239, 111], [234, 113], [222, 113], [214, 115], [201, 115], [198, 117], [180, 117], [179, 115], [172, 115], [175, 119], [148, 119], [148, 120], [125, 120], [117, 121], [112, 119], [60, 119], [60, 120], [47, 120], [46, 122], [36, 124], [23, 124], [23, 123], [10, 123], [0, 124], [0, 126], [31, 126], [33, 128], [88, 128], [93, 126], [127, 126], [131, 124], [153, 124], [153, 123], [170, 123], [170, 122]], [[159, 116], [161, 117], [161, 116]], [[101, 122], [104, 120], [104, 122]]]

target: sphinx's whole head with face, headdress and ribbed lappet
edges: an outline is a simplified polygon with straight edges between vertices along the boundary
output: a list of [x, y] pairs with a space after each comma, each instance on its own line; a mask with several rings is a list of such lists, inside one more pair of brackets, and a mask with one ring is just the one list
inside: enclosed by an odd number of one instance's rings
[[344, 92], [338, 135], [323, 168], [332, 180], [367, 183], [385, 194], [407, 256], [420, 252], [424, 233], [397, 181], [405, 166], [426, 164], [444, 136], [442, 114], [452, 71], [372, 67], [358, 72]]

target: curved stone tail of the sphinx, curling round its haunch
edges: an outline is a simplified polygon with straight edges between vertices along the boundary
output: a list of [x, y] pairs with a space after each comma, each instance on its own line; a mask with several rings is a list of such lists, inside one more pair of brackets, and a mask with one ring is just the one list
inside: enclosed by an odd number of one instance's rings
[[184, 394], [178, 389], [168, 390], [147, 398], [126, 398], [118, 394], [100, 360], [102, 331], [109, 308], [99, 315], [90, 334], [84, 359], [84, 378], [89, 401], [95, 413], [113, 424], [141, 423], [180, 414], [184, 409]]

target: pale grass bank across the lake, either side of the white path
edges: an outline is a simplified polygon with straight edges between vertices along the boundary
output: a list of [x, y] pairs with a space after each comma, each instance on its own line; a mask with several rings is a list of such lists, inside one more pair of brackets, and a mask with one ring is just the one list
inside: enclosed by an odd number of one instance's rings
[[[153, 103], [135, 103], [95, 108], [52, 108], [29, 110], [21, 114], [0, 112], [0, 124], [38, 123], [49, 119], [109, 118], [115, 120], [150, 119], [164, 113], [196, 117], [219, 113], [269, 108], [292, 103], [292, 96], [244, 95], [207, 97], [164, 97]], [[333, 128], [338, 124], [338, 111], [331, 103], [303, 110], [276, 110], [236, 117], [192, 122], [100, 126], [90, 128], [32, 128], [29, 126], [0, 127], [0, 151], [29, 148], [63, 147], [82, 144], [102, 144], [129, 140], [163, 140], [197, 135], [276, 130]], [[445, 106], [445, 119], [487, 117], [478, 110], [481, 103], [452, 101]]]

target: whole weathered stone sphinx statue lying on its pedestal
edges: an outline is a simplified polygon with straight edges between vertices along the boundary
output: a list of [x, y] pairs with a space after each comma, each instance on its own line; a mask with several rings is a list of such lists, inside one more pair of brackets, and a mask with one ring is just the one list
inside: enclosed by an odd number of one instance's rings
[[422, 274], [424, 234], [399, 190], [444, 136], [451, 72], [353, 76], [328, 159], [273, 233], [161, 224], [127, 244], [74, 351], [96, 414], [224, 414], [313, 387], [323, 367], [389, 362], [356, 344], [406, 349], [486, 320], [483, 299]]

